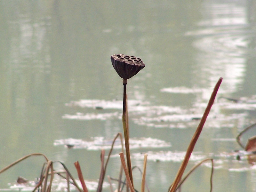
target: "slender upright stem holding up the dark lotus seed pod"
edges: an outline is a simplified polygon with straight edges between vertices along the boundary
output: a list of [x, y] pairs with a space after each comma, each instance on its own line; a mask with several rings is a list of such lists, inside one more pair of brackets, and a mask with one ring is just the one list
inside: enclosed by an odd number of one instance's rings
[[132, 181], [132, 187], [133, 187], [133, 179], [132, 179], [132, 164], [131, 164], [131, 156], [130, 156], [130, 149], [129, 149], [129, 134], [127, 130], [127, 124], [126, 124], [126, 84], [127, 79], [123, 80], [124, 85], [124, 98], [123, 98], [123, 128], [124, 128], [124, 143], [125, 143], [125, 153], [126, 153], [126, 161], [127, 161], [127, 167], [128, 167], [128, 173], [130, 180]]

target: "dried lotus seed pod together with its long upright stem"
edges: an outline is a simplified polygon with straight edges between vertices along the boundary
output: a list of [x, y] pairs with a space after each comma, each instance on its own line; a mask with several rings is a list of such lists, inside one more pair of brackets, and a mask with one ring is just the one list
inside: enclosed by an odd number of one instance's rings
[[131, 165], [131, 157], [130, 157], [130, 149], [129, 149], [129, 130], [127, 126], [126, 120], [126, 84], [127, 79], [130, 79], [132, 76], [136, 75], [141, 69], [145, 67], [145, 64], [140, 58], [135, 56], [128, 56], [124, 54], [115, 54], [111, 56], [111, 62], [116, 70], [117, 74], [123, 78], [124, 85], [124, 97], [123, 97], [123, 128], [124, 128], [124, 142], [125, 142], [125, 153], [126, 153], [126, 161], [127, 161], [127, 169], [129, 178], [131, 180], [132, 188], [133, 188], [133, 180], [132, 180], [132, 165]]

